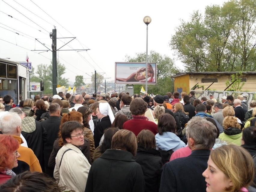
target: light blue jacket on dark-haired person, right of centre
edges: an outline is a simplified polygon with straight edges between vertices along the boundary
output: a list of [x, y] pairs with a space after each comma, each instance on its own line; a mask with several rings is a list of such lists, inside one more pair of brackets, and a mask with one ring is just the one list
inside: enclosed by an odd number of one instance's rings
[[178, 147], [181, 142], [181, 139], [172, 132], [163, 132], [163, 135], [159, 135], [159, 133], [157, 133], [155, 137], [157, 147], [164, 151]]

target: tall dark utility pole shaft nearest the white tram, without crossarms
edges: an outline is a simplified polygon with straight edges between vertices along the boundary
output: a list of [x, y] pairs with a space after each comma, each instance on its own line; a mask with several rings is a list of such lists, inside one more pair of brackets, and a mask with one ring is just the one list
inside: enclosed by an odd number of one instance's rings
[[52, 50], [53, 50], [53, 95], [57, 94], [57, 51], [56, 51], [56, 44], [57, 44], [57, 37], [56, 37], [56, 28], [54, 27], [52, 33]]

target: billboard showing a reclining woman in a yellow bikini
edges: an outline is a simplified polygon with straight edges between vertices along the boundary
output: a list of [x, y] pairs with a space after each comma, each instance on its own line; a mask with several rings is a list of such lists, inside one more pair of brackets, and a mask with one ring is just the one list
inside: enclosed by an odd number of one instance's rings
[[[115, 62], [115, 84], [145, 84], [146, 63]], [[148, 84], [156, 84], [156, 63], [148, 63]]]

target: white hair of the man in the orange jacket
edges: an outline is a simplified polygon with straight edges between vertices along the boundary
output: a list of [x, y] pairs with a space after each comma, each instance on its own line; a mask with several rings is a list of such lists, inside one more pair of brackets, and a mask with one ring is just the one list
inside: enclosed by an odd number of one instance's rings
[[0, 129], [5, 135], [14, 135], [16, 128], [21, 127], [21, 118], [16, 113], [8, 113], [0, 117]]

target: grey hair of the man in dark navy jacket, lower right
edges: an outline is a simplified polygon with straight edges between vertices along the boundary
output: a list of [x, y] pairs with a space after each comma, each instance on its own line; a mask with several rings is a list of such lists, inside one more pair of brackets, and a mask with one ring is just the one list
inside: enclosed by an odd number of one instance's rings
[[193, 117], [187, 123], [186, 136], [194, 139], [196, 149], [212, 149], [217, 129], [212, 122], [202, 117]]

